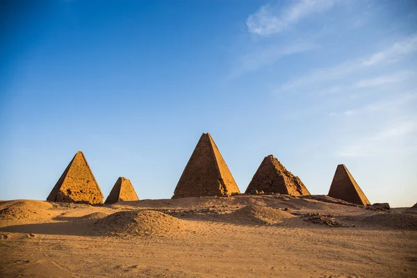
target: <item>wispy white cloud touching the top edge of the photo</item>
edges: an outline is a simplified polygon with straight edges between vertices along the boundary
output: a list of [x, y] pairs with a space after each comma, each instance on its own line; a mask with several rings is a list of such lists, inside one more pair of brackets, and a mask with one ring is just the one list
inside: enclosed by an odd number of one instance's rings
[[277, 8], [276, 5], [262, 6], [246, 19], [250, 33], [267, 36], [286, 30], [289, 26], [309, 15], [329, 10], [340, 0], [300, 0], [292, 6]]

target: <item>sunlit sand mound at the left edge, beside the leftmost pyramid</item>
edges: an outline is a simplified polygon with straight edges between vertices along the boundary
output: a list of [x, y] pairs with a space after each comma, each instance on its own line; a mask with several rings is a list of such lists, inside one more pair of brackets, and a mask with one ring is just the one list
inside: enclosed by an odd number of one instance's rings
[[0, 202], [0, 220], [46, 218], [51, 214], [51, 203], [19, 199]]

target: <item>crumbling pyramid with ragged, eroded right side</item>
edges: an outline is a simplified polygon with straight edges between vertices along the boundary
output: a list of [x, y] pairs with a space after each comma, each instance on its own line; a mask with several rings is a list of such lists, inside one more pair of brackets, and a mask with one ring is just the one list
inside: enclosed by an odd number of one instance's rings
[[286, 170], [286, 167], [272, 154], [263, 158], [245, 193], [256, 193], [256, 191], [293, 196], [310, 195], [300, 178]]

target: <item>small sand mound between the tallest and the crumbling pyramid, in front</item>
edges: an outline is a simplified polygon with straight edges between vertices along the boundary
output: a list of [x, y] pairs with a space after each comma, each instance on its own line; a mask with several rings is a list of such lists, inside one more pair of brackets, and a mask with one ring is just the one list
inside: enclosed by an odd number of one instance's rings
[[277, 224], [285, 219], [294, 216], [278, 208], [264, 206], [244, 206], [243, 208], [229, 213], [227, 218], [236, 222], [252, 223], [252, 224]]

